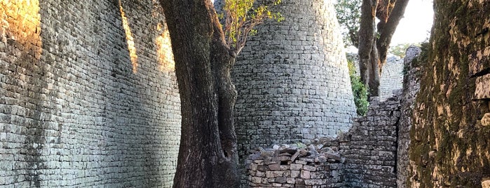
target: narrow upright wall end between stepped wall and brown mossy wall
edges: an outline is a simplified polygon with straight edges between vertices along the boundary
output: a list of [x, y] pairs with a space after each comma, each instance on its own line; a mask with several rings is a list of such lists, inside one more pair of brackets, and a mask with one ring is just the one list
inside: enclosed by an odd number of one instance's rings
[[409, 46], [404, 58], [404, 69], [407, 73], [403, 79], [402, 107], [400, 123], [398, 124], [398, 146], [397, 146], [397, 187], [407, 187], [408, 175], [408, 148], [410, 145], [411, 114], [414, 110], [414, 100], [420, 89], [421, 67], [424, 62], [418, 59], [421, 48]]

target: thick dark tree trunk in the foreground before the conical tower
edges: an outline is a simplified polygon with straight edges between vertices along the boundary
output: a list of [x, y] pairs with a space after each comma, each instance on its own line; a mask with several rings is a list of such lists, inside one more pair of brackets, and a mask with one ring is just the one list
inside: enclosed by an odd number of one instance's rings
[[161, 0], [182, 109], [174, 187], [238, 187], [230, 80], [235, 57], [207, 0]]

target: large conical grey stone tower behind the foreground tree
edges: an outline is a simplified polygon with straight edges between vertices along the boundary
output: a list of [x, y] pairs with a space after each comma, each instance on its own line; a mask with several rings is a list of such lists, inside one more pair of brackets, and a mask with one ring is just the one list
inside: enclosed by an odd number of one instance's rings
[[233, 67], [240, 156], [259, 146], [335, 137], [355, 116], [332, 1], [283, 0], [273, 10], [285, 20], [259, 26]]

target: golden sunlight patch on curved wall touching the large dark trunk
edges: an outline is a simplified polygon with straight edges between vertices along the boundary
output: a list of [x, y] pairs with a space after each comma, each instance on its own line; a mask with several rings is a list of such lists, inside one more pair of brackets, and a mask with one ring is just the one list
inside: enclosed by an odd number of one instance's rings
[[167, 26], [158, 23], [156, 26], [160, 36], [156, 37], [157, 58], [161, 72], [172, 72], [175, 69], [174, 54], [172, 53], [172, 43], [170, 43], [170, 33]]

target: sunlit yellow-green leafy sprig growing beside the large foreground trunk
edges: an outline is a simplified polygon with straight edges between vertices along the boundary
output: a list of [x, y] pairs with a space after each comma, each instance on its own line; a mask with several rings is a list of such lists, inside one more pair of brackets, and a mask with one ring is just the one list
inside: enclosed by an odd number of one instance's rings
[[[240, 49], [245, 46], [247, 36], [257, 33], [253, 29], [266, 18], [284, 20], [280, 13], [274, 13], [266, 5], [254, 7], [255, 0], [224, 0], [224, 13], [219, 15], [224, 19], [223, 31], [226, 38], [226, 44], [230, 48]], [[273, 0], [273, 5], [280, 4], [281, 0]]]

